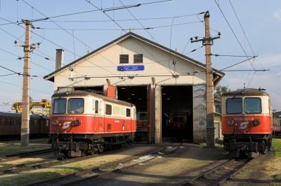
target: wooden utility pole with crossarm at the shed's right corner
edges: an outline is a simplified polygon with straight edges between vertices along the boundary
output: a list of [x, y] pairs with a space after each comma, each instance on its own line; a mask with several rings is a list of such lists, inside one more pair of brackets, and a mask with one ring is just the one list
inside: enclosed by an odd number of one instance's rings
[[214, 82], [213, 82], [213, 69], [211, 67], [211, 45], [213, 45], [213, 40], [220, 38], [221, 34], [218, 32], [218, 36], [212, 38], [210, 34], [209, 26], [209, 11], [204, 14], [205, 22], [205, 37], [203, 39], [197, 39], [193, 41], [190, 38], [191, 43], [202, 41], [205, 46], [205, 56], [206, 56], [206, 104], [207, 104], [207, 146], [209, 148], [215, 145], [215, 135], [214, 135]]

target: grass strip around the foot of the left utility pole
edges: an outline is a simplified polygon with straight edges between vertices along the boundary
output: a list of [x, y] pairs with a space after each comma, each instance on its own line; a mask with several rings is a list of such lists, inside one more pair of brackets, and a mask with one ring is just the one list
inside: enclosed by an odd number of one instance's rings
[[[1, 141], [0, 142], [0, 156], [13, 154], [17, 152], [25, 152], [30, 150], [38, 150], [42, 148], [49, 148], [46, 145], [48, 138], [32, 139], [30, 140], [30, 145], [27, 147], [20, 146], [20, 141]], [[44, 144], [41, 144], [44, 143]]]

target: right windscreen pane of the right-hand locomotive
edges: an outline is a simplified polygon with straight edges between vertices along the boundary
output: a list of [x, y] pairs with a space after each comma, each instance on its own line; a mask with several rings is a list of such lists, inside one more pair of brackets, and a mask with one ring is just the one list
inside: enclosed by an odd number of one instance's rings
[[247, 97], [244, 99], [245, 113], [261, 113], [261, 99], [259, 97]]

